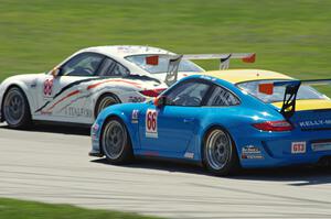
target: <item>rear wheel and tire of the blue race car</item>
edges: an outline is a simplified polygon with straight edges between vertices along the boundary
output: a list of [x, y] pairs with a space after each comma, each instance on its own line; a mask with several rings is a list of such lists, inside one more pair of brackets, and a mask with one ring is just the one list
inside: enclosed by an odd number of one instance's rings
[[238, 169], [236, 147], [225, 130], [221, 128], [210, 130], [203, 146], [203, 164], [212, 174], [226, 176]]

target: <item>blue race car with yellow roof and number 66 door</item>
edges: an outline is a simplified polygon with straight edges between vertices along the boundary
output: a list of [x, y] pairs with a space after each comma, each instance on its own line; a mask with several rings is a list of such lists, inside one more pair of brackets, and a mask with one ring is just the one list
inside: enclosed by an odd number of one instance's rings
[[[190, 76], [153, 101], [106, 108], [92, 127], [89, 155], [106, 156], [111, 164], [134, 156], [194, 161], [217, 175], [241, 166], [330, 158], [331, 101], [306, 85], [330, 80], [260, 73], [246, 73], [247, 81], [220, 78], [233, 72]], [[301, 109], [296, 110], [296, 101]], [[314, 101], [319, 106], [309, 108]]]

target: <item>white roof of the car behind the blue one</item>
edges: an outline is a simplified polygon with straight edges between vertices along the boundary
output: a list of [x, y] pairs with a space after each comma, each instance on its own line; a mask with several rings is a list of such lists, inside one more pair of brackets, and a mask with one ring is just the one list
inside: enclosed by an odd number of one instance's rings
[[100, 53], [110, 57], [124, 58], [130, 55], [142, 55], [142, 54], [173, 54], [169, 51], [141, 45], [106, 45], [106, 46], [95, 46], [81, 50], [82, 52], [95, 52]]

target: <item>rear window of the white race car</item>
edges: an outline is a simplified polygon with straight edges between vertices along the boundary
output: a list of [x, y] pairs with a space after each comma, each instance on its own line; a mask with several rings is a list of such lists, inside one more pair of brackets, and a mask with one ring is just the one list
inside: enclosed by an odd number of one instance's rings
[[[151, 56], [151, 54], [127, 56], [126, 59], [151, 74], [167, 73], [169, 66], [169, 58], [159, 57], [158, 65], [148, 65], [146, 63], [147, 56]], [[203, 70], [190, 61], [181, 61], [179, 65], [179, 72], [202, 73]]]

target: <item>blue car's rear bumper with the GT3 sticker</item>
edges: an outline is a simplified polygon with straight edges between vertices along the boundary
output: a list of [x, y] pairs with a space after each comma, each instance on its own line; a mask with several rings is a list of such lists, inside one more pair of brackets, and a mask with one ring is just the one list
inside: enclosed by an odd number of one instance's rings
[[[319, 146], [325, 143], [325, 146]], [[330, 144], [330, 145], [328, 145]], [[238, 146], [239, 145], [239, 146]], [[299, 151], [293, 151], [300, 145]], [[305, 146], [303, 146], [305, 145]], [[331, 157], [331, 130], [258, 133], [237, 141], [243, 167], [277, 167], [296, 164], [314, 164]], [[250, 146], [250, 147], [249, 147]]]

